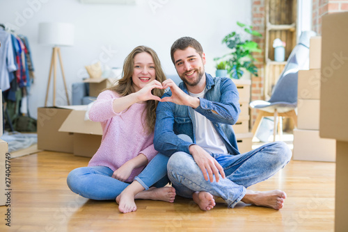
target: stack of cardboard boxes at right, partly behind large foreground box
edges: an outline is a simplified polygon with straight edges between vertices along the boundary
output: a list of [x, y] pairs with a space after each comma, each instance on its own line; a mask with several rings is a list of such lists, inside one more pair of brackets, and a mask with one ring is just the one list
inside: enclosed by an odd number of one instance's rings
[[309, 70], [299, 70], [294, 160], [335, 161], [335, 140], [319, 138], [322, 38], [310, 38]]

